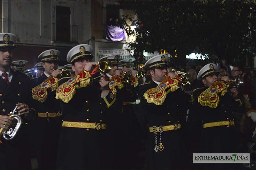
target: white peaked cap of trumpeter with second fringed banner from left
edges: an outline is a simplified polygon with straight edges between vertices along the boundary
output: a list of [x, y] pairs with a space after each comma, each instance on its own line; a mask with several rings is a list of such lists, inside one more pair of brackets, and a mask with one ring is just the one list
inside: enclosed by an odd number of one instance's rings
[[75, 63], [74, 61], [79, 59], [80, 57], [89, 57], [90, 59], [93, 58], [93, 48], [88, 44], [79, 44], [71, 50], [68, 51], [67, 61], [68, 63]]

